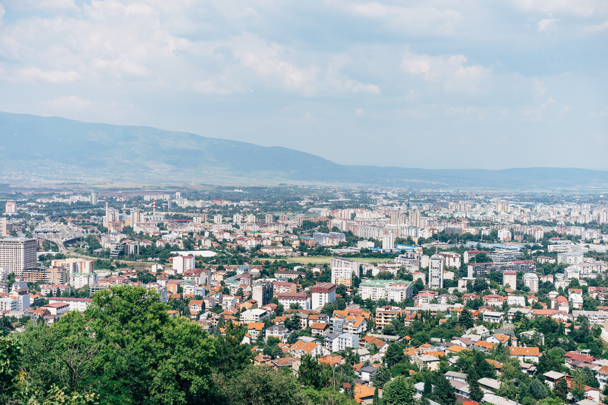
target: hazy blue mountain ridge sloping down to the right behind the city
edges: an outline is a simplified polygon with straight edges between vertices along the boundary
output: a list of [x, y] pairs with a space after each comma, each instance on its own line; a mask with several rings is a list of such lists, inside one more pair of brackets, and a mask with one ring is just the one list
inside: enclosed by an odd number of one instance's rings
[[[281, 146], [146, 126], [0, 112], [4, 166], [108, 180], [287, 180], [414, 188], [608, 188], [608, 172], [576, 168], [415, 169], [337, 165]], [[66, 166], [71, 165], [71, 166]]]

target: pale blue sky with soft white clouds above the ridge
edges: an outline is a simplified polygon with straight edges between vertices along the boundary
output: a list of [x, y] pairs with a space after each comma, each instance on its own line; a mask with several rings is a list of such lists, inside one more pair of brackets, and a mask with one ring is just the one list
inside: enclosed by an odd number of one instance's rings
[[345, 165], [607, 170], [607, 51], [605, 0], [0, 0], [0, 111]]

